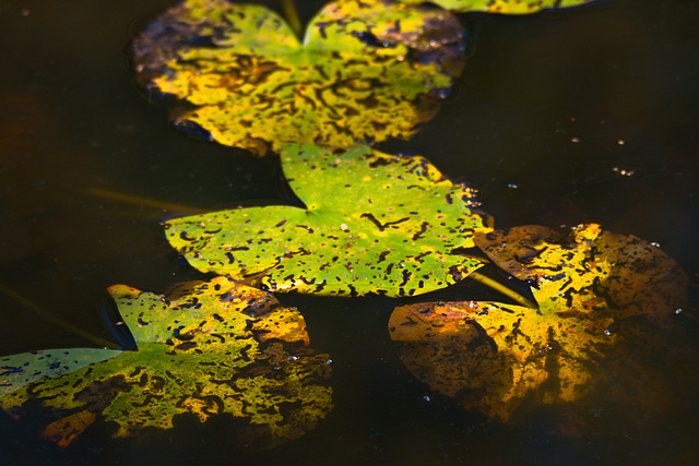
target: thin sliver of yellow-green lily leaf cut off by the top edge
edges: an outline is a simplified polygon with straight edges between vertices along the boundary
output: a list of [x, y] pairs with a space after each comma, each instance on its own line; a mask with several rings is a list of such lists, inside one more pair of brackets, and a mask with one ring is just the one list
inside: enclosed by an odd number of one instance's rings
[[[404, 3], [422, 3], [423, 0], [399, 0]], [[439, 7], [457, 13], [481, 11], [500, 14], [530, 14], [543, 10], [560, 10], [581, 7], [599, 0], [433, 0]]]

